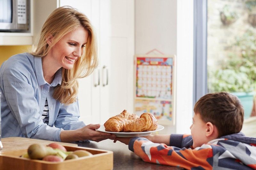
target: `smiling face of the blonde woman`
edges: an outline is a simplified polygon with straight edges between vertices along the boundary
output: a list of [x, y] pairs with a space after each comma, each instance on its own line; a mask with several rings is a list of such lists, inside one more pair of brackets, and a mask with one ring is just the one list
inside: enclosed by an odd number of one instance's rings
[[[88, 31], [82, 26], [63, 36], [49, 51], [56, 69], [72, 69], [76, 60], [83, 55], [87, 43]], [[54, 37], [53, 37], [54, 38]]]

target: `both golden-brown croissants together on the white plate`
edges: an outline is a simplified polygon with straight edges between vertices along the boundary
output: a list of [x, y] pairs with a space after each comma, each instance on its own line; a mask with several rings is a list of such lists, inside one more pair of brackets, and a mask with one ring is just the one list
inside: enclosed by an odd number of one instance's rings
[[106, 131], [109, 132], [143, 132], [147, 130], [156, 130], [157, 120], [150, 113], [143, 113], [137, 116], [127, 113], [124, 110], [119, 115], [113, 116], [104, 123]]

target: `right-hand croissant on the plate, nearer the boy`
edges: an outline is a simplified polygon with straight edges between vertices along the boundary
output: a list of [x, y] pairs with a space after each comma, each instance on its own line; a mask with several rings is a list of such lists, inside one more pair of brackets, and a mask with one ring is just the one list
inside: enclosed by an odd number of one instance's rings
[[128, 123], [124, 127], [125, 132], [143, 132], [147, 130], [156, 130], [157, 120], [155, 116], [150, 113], [143, 113], [139, 119]]

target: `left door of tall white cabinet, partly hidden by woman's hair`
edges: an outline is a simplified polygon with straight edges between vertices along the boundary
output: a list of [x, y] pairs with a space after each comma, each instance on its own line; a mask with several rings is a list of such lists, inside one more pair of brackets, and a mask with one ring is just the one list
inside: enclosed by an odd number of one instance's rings
[[[72, 6], [83, 12], [92, 22], [96, 35], [99, 35], [99, 0], [60, 0], [60, 6]], [[79, 79], [78, 102], [80, 110], [80, 120], [85, 124], [100, 123], [100, 80], [99, 68], [86, 78]], [[97, 103], [97, 107], [93, 106]]]

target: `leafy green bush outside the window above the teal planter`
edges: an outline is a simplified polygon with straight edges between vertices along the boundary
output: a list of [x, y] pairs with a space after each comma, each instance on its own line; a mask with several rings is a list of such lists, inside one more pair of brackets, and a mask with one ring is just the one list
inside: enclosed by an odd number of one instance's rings
[[256, 89], [255, 29], [248, 29], [243, 36], [236, 37], [234, 48], [238, 53], [230, 53], [221, 69], [209, 68], [210, 92], [252, 92]]

